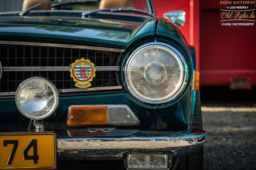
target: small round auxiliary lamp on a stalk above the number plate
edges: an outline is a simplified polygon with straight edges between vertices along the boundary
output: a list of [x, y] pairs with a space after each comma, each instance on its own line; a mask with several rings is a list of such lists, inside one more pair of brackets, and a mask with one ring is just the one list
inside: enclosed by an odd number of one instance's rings
[[58, 106], [58, 91], [47, 79], [32, 77], [26, 79], [17, 89], [16, 105], [29, 119], [44, 119]]

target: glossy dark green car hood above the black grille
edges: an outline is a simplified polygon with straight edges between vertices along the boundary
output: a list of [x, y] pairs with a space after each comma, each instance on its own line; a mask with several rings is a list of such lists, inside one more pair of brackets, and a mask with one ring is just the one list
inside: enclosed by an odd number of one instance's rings
[[0, 17], [0, 37], [13, 41], [61, 41], [126, 48], [138, 38], [154, 38], [155, 25], [155, 18], [135, 22], [81, 17], [4, 16]]

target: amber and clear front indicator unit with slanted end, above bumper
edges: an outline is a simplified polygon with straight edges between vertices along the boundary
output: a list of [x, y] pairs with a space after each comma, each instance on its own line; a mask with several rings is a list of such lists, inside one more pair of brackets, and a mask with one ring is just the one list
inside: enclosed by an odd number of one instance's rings
[[127, 105], [72, 105], [68, 126], [138, 125], [139, 119]]

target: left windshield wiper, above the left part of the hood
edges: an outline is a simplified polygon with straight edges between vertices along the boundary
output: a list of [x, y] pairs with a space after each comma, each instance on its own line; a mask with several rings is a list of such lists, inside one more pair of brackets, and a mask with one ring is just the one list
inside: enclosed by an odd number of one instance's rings
[[[58, 7], [58, 6], [67, 6], [67, 5], [73, 5], [73, 4], [77, 4], [77, 3], [95, 3], [97, 2], [97, 0], [69, 0], [69, 1], [64, 1], [64, 2], [60, 2], [60, 3], [55, 3], [52, 4], [52, 8]], [[42, 2], [42, 3], [37, 3], [34, 6], [30, 6], [29, 8], [26, 8], [24, 11], [20, 12], [20, 16], [24, 16], [26, 15], [29, 11], [31, 11], [32, 9], [45, 4], [45, 3], [54, 3], [54, 2]]]

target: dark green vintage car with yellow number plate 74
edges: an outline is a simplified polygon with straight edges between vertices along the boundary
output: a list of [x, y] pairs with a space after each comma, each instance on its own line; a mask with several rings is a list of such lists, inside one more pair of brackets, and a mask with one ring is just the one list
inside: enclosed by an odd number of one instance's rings
[[175, 25], [184, 12], [39, 1], [0, 13], [0, 170], [202, 169], [195, 48]]

